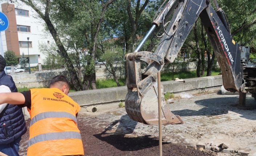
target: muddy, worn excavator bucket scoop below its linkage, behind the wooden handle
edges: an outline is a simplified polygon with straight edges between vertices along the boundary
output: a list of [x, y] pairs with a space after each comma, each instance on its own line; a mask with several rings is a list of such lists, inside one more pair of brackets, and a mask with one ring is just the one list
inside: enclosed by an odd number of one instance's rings
[[[165, 104], [162, 90], [162, 125], [183, 123], [179, 115], [174, 115], [170, 111], [168, 105]], [[147, 125], [158, 125], [158, 95], [157, 83], [153, 83], [151, 87], [140, 96], [137, 89], [129, 89], [125, 109], [129, 117], [135, 121], [142, 122]]]

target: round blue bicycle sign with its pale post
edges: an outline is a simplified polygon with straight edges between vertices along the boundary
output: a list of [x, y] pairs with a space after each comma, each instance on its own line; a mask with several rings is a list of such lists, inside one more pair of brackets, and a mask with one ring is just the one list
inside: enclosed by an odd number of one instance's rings
[[[5, 31], [9, 26], [8, 18], [5, 16], [3, 12], [0, 12], [0, 49], [1, 49], [1, 55], [4, 57], [4, 47], [3, 47], [3, 41], [2, 41], [2, 33], [1, 31]], [[6, 72], [6, 69], [4, 69]]]

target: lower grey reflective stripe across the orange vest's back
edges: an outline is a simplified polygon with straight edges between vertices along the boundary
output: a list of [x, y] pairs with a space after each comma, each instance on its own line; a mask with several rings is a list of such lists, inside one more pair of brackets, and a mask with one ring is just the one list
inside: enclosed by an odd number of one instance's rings
[[40, 134], [28, 140], [28, 147], [47, 140], [57, 140], [57, 139], [82, 139], [79, 132], [66, 131], [66, 132], [53, 132]]

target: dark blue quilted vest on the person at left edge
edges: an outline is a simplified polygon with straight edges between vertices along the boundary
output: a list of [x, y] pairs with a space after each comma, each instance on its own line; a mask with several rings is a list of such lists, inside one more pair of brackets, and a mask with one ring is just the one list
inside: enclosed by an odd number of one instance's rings
[[[17, 92], [12, 77], [6, 75], [4, 71], [0, 72], [0, 85], [6, 85], [10, 88], [11, 92]], [[0, 113], [0, 145], [13, 142], [25, 134], [26, 131], [27, 127], [22, 108], [17, 105], [7, 104]]]

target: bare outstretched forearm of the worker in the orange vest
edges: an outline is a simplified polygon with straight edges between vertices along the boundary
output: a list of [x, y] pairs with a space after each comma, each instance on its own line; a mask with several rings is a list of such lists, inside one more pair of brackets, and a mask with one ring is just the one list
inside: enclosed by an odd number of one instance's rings
[[25, 103], [25, 97], [21, 93], [0, 93], [0, 104], [20, 105]]

